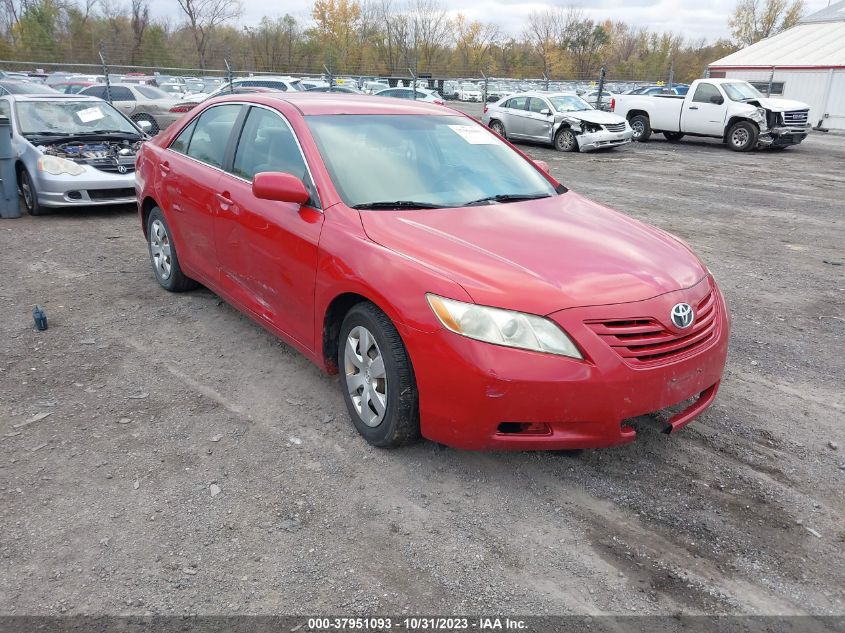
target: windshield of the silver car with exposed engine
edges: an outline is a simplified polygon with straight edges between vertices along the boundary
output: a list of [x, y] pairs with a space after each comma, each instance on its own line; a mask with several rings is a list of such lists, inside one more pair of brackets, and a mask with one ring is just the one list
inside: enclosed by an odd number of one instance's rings
[[126, 117], [104, 101], [18, 101], [17, 118], [21, 134], [139, 134]]

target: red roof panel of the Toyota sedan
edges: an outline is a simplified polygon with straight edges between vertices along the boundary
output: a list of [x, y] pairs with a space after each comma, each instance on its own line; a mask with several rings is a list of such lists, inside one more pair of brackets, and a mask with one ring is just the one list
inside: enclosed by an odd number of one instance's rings
[[220, 96], [209, 103], [240, 101], [278, 106], [289, 103], [304, 116], [315, 114], [441, 114], [463, 116], [451, 108], [425, 101], [339, 92], [267, 92]]

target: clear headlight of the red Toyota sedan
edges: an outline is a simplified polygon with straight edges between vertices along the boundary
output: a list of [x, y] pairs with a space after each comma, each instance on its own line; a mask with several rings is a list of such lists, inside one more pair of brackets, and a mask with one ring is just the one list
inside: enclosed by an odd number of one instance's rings
[[446, 329], [462, 336], [547, 354], [584, 357], [560, 327], [540, 316], [488, 308], [427, 294], [428, 305]]

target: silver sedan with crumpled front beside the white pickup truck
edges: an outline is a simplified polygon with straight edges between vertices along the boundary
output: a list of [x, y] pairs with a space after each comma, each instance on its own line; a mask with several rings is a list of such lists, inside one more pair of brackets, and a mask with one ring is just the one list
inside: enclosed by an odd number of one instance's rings
[[481, 121], [508, 140], [549, 143], [562, 152], [610, 149], [627, 145], [633, 137], [623, 117], [565, 93], [507, 97], [485, 107]]

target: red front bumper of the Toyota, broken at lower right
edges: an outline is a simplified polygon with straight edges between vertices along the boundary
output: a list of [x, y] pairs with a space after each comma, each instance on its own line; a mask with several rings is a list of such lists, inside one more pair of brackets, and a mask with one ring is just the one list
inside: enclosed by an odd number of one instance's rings
[[[673, 305], [692, 304], [711, 283], [706, 279], [639, 303], [551, 315], [581, 347], [584, 361], [481, 343], [445, 329], [403, 332], [417, 379], [422, 434], [476, 450], [603, 448], [634, 440], [636, 432], [624, 420], [699, 396], [667, 427], [681, 428], [713, 402], [724, 370], [729, 319], [715, 285], [718, 326], [713, 339], [663, 364], [631, 365], [585, 321], [608, 315], [668, 318]], [[543, 425], [545, 431], [511, 432], [512, 426], [529, 424]]]

